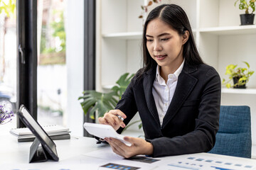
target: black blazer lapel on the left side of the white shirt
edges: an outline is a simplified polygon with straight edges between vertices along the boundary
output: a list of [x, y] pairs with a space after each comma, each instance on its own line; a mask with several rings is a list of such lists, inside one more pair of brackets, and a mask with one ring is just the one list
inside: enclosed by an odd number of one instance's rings
[[153, 115], [154, 119], [156, 120], [156, 122], [159, 124], [159, 127], [160, 127], [159, 115], [157, 113], [156, 103], [154, 101], [154, 96], [152, 94], [152, 88], [153, 88], [155, 79], [156, 79], [156, 68], [153, 67], [153, 69], [151, 69], [148, 72], [146, 77], [144, 77], [143, 87], [144, 87], [144, 95], [146, 98], [146, 105], [149, 108], [149, 112], [151, 113], [151, 115]]

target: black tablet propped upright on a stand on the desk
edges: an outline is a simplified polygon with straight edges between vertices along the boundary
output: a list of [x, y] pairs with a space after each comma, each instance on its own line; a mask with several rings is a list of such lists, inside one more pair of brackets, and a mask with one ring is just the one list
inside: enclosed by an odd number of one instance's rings
[[31, 130], [33, 135], [36, 136], [36, 140], [41, 143], [43, 149], [46, 149], [45, 152], [46, 156], [48, 156], [47, 158], [58, 161], [59, 158], [55, 143], [53, 142], [53, 140], [50, 139], [50, 137], [48, 136], [46, 131], [43, 130], [41, 125], [39, 125], [39, 123], [32, 117], [32, 115], [28, 112], [25, 106], [21, 105], [17, 112], [17, 115], [19, 118], [21, 118], [21, 121], [26, 125], [26, 127]]

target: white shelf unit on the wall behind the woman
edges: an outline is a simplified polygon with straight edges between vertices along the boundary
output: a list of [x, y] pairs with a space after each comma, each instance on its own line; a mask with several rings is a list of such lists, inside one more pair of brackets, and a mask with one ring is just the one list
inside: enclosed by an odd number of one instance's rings
[[[113, 85], [124, 72], [142, 67], [142, 13], [147, 0], [97, 0], [97, 90]], [[188, 15], [198, 50], [204, 62], [227, 79], [225, 67], [242, 61], [256, 71], [256, 26], [240, 26], [242, 11], [234, 0], [162, 0], [178, 4]], [[149, 8], [151, 11], [154, 4]], [[146, 13], [147, 15], [147, 13]], [[256, 73], [255, 73], [256, 74]], [[242, 98], [242, 101], [241, 101]], [[256, 145], [256, 79], [247, 89], [223, 89], [222, 105], [248, 105], [252, 112], [252, 143]]]

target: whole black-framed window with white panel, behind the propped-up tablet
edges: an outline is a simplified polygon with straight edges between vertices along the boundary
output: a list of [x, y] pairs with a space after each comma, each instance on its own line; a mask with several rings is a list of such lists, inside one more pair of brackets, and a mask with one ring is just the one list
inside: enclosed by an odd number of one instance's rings
[[17, 25], [18, 105], [41, 125], [63, 124], [82, 135], [78, 97], [95, 84], [95, 0], [17, 1]]

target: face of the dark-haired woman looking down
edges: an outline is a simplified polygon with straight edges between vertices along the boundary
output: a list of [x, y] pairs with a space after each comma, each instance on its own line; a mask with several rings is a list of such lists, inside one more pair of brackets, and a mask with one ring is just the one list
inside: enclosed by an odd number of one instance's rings
[[161, 71], [174, 73], [183, 62], [183, 44], [188, 40], [188, 31], [179, 35], [174, 28], [156, 18], [146, 28], [146, 47]]

